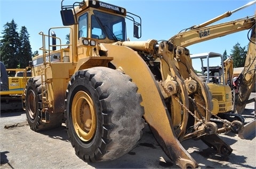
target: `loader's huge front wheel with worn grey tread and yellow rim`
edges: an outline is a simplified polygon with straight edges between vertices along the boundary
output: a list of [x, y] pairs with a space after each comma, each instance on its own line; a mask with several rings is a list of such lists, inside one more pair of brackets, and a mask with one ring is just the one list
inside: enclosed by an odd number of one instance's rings
[[66, 126], [76, 155], [86, 162], [114, 160], [142, 136], [144, 110], [131, 78], [108, 67], [76, 72], [66, 92]]

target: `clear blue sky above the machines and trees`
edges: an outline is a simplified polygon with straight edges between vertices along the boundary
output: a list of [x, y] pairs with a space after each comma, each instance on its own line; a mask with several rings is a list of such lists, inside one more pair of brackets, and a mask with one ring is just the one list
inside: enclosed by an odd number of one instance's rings
[[[81, 0], [82, 1], [82, 0]], [[252, 2], [252, 0], [102, 0], [103, 2], [124, 7], [128, 12], [139, 15], [142, 20], [142, 36], [133, 38], [133, 28], [127, 28], [127, 36], [130, 40], [144, 41], [148, 39], [168, 40], [179, 31], [195, 26], [227, 11], [233, 11]], [[71, 5], [79, 0], [65, 0], [66, 5]], [[19, 32], [25, 26], [30, 35], [32, 52], [42, 47], [42, 37], [38, 34], [47, 33], [51, 27], [62, 26], [60, 16], [61, 0], [0, 0], [0, 38], [4, 30], [4, 24], [12, 19], [17, 24]], [[256, 13], [256, 4], [246, 7], [228, 18], [217, 23], [228, 22]], [[188, 46], [191, 54], [215, 52], [223, 54], [231, 53], [231, 49], [237, 43], [241, 47], [247, 46], [249, 30], [233, 33], [225, 37], [207, 40], [202, 43]], [[65, 36], [69, 32], [55, 32], [57, 37], [66, 43]], [[198, 69], [197, 69], [198, 70]]]

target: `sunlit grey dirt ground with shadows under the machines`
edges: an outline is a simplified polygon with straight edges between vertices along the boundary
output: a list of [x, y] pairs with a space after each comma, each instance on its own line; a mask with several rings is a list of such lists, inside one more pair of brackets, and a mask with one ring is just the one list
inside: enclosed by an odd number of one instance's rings
[[[247, 121], [254, 119], [254, 103], [246, 106], [243, 116]], [[255, 130], [246, 139], [235, 133], [219, 136], [233, 149], [226, 158], [215, 155], [201, 140], [186, 140], [181, 144], [201, 168], [256, 168]], [[179, 168], [165, 155], [148, 125], [139, 145], [130, 153], [111, 162], [85, 163], [75, 155], [65, 125], [34, 132], [29, 129], [23, 111], [1, 112], [0, 151], [0, 168]]]

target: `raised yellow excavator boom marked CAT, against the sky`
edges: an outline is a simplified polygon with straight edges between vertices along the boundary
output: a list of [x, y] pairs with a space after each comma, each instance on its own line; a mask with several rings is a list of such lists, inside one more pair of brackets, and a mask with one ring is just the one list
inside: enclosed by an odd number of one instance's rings
[[246, 18], [237, 19], [235, 21], [215, 24], [212, 26], [209, 25], [223, 18], [227, 18], [231, 14], [253, 4], [256, 4], [256, 1], [249, 2], [246, 5], [238, 7], [238, 9], [235, 9], [233, 11], [223, 13], [222, 15], [219, 15], [216, 18], [199, 24], [198, 26], [192, 26], [185, 31], [179, 32], [177, 35], [171, 37], [169, 41], [171, 41], [174, 45], [187, 47], [189, 45], [201, 43], [202, 41], [250, 29], [255, 25], [255, 15], [250, 17], [246, 16]]

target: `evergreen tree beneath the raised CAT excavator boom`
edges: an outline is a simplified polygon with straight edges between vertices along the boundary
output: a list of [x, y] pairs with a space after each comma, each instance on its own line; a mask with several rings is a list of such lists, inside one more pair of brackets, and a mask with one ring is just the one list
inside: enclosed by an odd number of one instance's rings
[[231, 56], [233, 57], [234, 67], [244, 67], [246, 53], [245, 46], [241, 47], [239, 43], [233, 46], [233, 49], [231, 49]]

